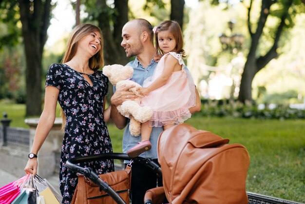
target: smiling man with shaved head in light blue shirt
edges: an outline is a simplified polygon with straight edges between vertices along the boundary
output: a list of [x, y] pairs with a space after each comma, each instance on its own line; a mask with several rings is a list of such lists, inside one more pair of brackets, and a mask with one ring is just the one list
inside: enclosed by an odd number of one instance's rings
[[[127, 57], [136, 56], [134, 61], [127, 65], [133, 67], [132, 80], [143, 85], [143, 82], [150, 76], [157, 65], [153, 61], [155, 56], [155, 48], [153, 46], [153, 32], [150, 22], [144, 19], [135, 19], [127, 22], [122, 29], [123, 41], [121, 45], [126, 51]], [[123, 129], [126, 124], [123, 135], [123, 153], [132, 148], [136, 143], [141, 141], [140, 137], [133, 137], [129, 131], [128, 119], [123, 117], [116, 109], [117, 105], [127, 100], [134, 100], [137, 96], [133, 92], [128, 91], [131, 86], [117, 89], [111, 98], [111, 118], [119, 129]], [[190, 109], [191, 113], [200, 110], [200, 98], [196, 90], [196, 106]], [[157, 142], [160, 133], [163, 131], [162, 127], [153, 127], [150, 142], [152, 149], [143, 152], [139, 157], [152, 158], [157, 162]], [[132, 204], [143, 204], [145, 192], [148, 189], [154, 188], [157, 185], [162, 186], [162, 178], [157, 178], [156, 174], [148, 167], [139, 164], [132, 164], [132, 184], [131, 184], [131, 199]]]

